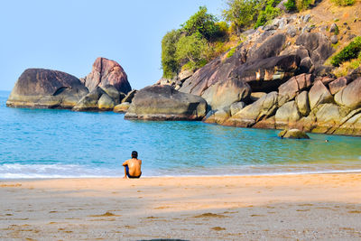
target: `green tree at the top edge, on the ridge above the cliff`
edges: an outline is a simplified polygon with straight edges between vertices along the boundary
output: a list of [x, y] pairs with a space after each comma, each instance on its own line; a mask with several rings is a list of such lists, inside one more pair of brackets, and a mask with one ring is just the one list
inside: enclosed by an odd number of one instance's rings
[[235, 25], [238, 35], [255, 23], [258, 15], [257, 0], [227, 0], [226, 4], [227, 9], [223, 11], [223, 17]]

